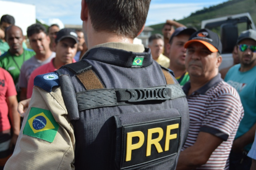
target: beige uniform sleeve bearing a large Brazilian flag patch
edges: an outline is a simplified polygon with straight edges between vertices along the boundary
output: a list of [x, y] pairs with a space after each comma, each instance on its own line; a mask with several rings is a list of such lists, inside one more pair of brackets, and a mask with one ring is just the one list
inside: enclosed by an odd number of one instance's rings
[[[53, 119], [50, 118], [51, 115]], [[40, 123], [45, 123], [44, 126], [48, 126], [48, 129], [40, 131]], [[45, 136], [45, 133], [50, 132], [49, 129], [56, 127], [58, 130], [55, 136]], [[53, 141], [49, 142], [49, 138]], [[67, 119], [60, 87], [54, 87], [53, 92], [34, 87], [14, 153], [4, 169], [74, 169], [74, 146], [74, 131]]]

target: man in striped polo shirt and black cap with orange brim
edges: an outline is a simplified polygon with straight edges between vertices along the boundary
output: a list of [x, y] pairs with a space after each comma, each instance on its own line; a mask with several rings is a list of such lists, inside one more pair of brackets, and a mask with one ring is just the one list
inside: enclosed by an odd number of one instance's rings
[[218, 34], [202, 29], [192, 34], [184, 47], [190, 81], [183, 90], [189, 103], [190, 125], [177, 169], [228, 169], [243, 108], [234, 87], [218, 73], [221, 41]]

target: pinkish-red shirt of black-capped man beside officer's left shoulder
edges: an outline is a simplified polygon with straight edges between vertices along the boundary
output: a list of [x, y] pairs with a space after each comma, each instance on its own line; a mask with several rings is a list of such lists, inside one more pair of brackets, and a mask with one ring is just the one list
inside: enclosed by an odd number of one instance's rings
[[[34, 87], [34, 79], [38, 75], [43, 75], [46, 73], [51, 73], [53, 71], [56, 71], [57, 69], [53, 65], [53, 59], [51, 59], [51, 62], [46, 63], [45, 65], [42, 65], [38, 68], [36, 68], [30, 75], [30, 78], [28, 80], [28, 87], [27, 87], [27, 99], [31, 98], [33, 87]], [[73, 63], [75, 63], [75, 59], [73, 59]]]

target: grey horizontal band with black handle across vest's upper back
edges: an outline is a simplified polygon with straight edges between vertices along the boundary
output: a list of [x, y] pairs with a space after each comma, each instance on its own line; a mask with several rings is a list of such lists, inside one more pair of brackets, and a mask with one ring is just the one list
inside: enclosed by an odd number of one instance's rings
[[179, 84], [167, 87], [151, 87], [145, 89], [98, 89], [78, 92], [76, 99], [79, 111], [99, 107], [131, 105], [135, 102], [156, 102], [170, 100], [186, 95]]

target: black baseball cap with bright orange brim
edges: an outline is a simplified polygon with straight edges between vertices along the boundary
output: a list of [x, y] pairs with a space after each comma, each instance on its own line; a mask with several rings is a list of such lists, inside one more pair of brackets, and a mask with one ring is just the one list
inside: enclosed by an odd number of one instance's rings
[[218, 34], [213, 33], [213, 31], [208, 30], [207, 28], [201, 29], [189, 38], [189, 41], [184, 45], [185, 48], [189, 46], [192, 42], [200, 42], [205, 45], [211, 52], [220, 52], [222, 51], [222, 44]]

